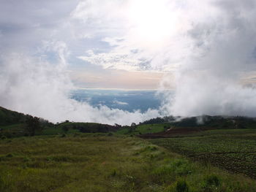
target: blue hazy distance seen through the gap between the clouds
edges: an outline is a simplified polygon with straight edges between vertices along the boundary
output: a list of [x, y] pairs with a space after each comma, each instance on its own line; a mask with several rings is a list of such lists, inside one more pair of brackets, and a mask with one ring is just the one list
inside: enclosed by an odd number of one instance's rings
[[134, 112], [159, 110], [163, 95], [152, 90], [120, 89], [75, 89], [70, 98], [79, 102], [88, 102], [92, 107], [105, 105], [110, 109]]

